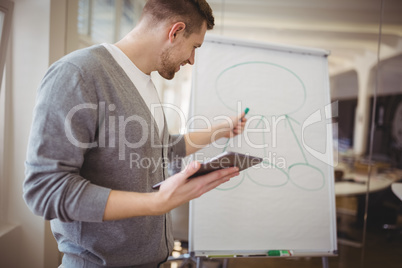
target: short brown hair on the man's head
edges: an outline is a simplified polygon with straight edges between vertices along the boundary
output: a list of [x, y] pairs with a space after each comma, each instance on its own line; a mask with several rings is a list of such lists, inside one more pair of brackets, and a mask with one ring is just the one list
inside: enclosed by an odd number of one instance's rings
[[186, 37], [199, 32], [204, 21], [208, 30], [215, 25], [212, 9], [205, 0], [148, 0], [141, 19], [145, 16], [149, 16], [153, 23], [184, 22]]

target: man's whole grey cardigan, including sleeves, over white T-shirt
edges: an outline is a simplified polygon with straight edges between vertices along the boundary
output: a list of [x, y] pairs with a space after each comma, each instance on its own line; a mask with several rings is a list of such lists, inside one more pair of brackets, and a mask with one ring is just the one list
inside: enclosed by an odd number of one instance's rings
[[159, 137], [139, 92], [100, 45], [54, 63], [36, 102], [23, 197], [51, 220], [63, 265], [153, 267], [166, 259], [170, 214], [102, 218], [111, 189], [151, 192], [167, 178], [167, 160], [185, 155], [182, 136], [165, 127]]

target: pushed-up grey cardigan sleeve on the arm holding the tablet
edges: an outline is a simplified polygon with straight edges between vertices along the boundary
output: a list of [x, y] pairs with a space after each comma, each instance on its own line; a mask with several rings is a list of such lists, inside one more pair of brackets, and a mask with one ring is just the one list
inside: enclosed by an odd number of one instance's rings
[[85, 153], [97, 146], [97, 97], [91, 86], [79, 67], [59, 61], [38, 90], [23, 198], [33, 213], [47, 220], [103, 219], [110, 189], [80, 175]]

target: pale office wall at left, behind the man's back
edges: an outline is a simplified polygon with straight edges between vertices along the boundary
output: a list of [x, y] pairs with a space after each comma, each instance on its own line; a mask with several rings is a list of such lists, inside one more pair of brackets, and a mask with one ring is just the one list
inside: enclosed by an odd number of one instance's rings
[[[6, 179], [8, 198], [6, 219], [17, 225], [20, 232], [13, 237], [20, 241], [0, 238], [0, 248], [14, 247], [15, 258], [0, 267], [57, 267], [59, 253], [49, 232], [49, 225], [29, 211], [22, 199], [24, 161], [32, 123], [36, 90], [52, 59], [62, 54], [65, 36], [65, 6], [67, 0], [14, 0], [11, 43], [6, 63], [7, 127]], [[52, 12], [52, 13], [51, 13]], [[52, 14], [52, 16], [51, 16]], [[52, 39], [53, 38], [53, 39]], [[59, 43], [58, 43], [59, 42]], [[58, 48], [54, 49], [54, 46]], [[50, 47], [53, 49], [51, 50]], [[10, 244], [11, 243], [11, 244]], [[5, 261], [5, 260], [4, 260]], [[7, 265], [7, 266], [3, 266]]]

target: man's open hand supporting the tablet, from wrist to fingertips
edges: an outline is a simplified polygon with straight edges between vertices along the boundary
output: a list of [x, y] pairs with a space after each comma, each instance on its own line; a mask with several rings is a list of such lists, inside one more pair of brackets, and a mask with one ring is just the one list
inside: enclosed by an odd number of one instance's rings
[[231, 167], [188, 179], [199, 168], [200, 163], [193, 161], [182, 172], [162, 183], [155, 199], [156, 214], [164, 214], [239, 175], [239, 168]]

